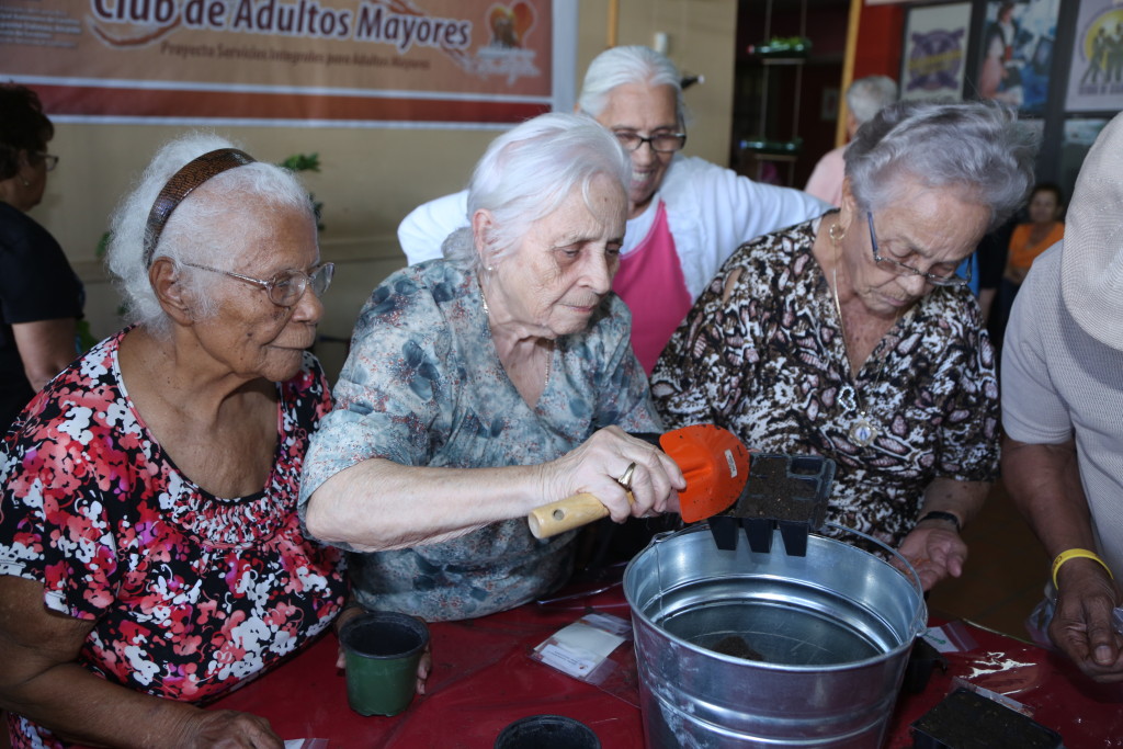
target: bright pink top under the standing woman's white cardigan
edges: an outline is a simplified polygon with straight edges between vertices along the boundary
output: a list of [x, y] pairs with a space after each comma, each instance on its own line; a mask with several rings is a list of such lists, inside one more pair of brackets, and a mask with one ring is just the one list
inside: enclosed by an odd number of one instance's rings
[[661, 200], [651, 230], [621, 258], [612, 290], [631, 310], [632, 348], [650, 375], [675, 328], [694, 304]]

